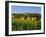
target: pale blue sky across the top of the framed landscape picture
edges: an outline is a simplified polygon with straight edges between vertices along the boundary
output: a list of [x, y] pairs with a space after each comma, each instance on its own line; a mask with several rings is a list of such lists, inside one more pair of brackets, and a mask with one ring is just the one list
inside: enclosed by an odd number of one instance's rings
[[41, 14], [41, 7], [12, 5], [11, 11], [12, 11], [12, 13], [21, 12], [21, 13], [39, 13], [39, 14]]

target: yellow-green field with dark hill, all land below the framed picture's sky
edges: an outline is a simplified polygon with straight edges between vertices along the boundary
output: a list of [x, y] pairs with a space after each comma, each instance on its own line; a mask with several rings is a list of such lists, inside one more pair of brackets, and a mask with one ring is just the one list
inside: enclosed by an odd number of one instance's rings
[[12, 14], [12, 31], [41, 29], [41, 15], [36, 13]]

